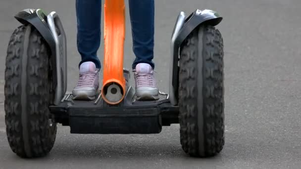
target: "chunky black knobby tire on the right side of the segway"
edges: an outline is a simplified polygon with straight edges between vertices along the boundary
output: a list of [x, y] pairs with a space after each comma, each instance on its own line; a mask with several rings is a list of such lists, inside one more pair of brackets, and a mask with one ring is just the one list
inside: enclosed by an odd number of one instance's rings
[[179, 121], [183, 150], [210, 157], [224, 146], [223, 39], [212, 26], [196, 28], [179, 61]]

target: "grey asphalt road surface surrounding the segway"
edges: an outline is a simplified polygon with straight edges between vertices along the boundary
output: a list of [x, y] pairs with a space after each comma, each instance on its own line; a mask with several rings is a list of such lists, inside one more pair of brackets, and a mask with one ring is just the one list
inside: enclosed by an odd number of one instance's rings
[[[70, 134], [59, 125], [50, 155], [24, 160], [8, 146], [4, 123], [4, 61], [9, 37], [24, 8], [55, 10], [68, 40], [68, 90], [78, 78], [75, 0], [0, 2], [0, 169], [301, 169], [301, 1], [157, 0], [156, 78], [168, 91], [169, 42], [180, 10], [218, 11], [225, 46], [223, 151], [209, 159], [190, 158], [180, 145], [179, 125], [150, 135]], [[127, 10], [127, 18], [129, 18]], [[134, 59], [127, 19], [125, 66]], [[102, 58], [103, 46], [99, 50]]]

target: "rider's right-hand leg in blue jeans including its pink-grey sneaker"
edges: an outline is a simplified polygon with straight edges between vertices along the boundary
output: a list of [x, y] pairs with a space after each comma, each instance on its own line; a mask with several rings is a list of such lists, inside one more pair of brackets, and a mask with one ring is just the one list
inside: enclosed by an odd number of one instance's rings
[[154, 0], [129, 0], [138, 100], [158, 99], [159, 90], [153, 75]]

